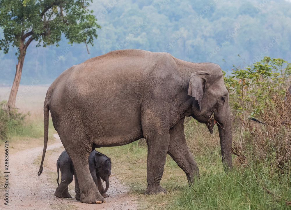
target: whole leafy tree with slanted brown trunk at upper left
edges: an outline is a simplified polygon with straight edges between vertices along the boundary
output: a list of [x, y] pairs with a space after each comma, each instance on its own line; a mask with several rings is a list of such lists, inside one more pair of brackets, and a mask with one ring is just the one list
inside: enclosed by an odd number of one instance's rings
[[8, 99], [8, 110], [15, 108], [16, 94], [29, 44], [35, 40], [37, 47], [56, 44], [61, 35], [70, 44], [84, 42], [93, 46], [96, 31], [101, 28], [89, 10], [92, 0], [1, 0], [0, 27], [4, 38], [0, 40], [0, 50], [8, 53], [10, 47], [17, 47], [16, 73]]

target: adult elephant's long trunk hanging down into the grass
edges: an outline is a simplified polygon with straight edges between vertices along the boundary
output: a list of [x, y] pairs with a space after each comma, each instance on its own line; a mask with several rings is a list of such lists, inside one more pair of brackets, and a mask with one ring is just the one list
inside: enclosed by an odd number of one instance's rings
[[232, 128], [231, 128], [231, 120], [230, 120], [230, 112], [228, 109], [227, 116], [220, 119], [219, 123], [217, 123], [219, 139], [220, 139], [220, 148], [221, 148], [221, 156], [222, 163], [224, 166], [224, 170], [228, 171], [228, 169], [232, 169], [232, 160], [231, 160], [231, 143], [232, 143]]

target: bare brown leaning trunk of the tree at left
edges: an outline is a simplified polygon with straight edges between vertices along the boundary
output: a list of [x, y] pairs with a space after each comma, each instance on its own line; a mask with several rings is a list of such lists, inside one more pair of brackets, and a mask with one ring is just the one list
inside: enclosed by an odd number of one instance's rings
[[25, 57], [25, 53], [26, 53], [26, 48], [27, 48], [27, 46], [25, 46], [23, 41], [21, 41], [21, 43], [19, 45], [19, 57], [18, 57], [18, 63], [16, 65], [15, 77], [14, 77], [13, 85], [12, 85], [9, 99], [8, 99], [8, 103], [7, 103], [8, 111], [10, 111], [11, 108], [15, 108], [16, 95], [17, 95], [17, 90], [18, 90], [19, 83], [20, 83], [21, 72], [22, 72], [24, 57]]

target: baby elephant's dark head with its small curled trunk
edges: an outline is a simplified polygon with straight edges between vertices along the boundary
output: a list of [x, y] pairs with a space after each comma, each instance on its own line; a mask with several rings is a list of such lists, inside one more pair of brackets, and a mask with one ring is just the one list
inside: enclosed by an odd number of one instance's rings
[[111, 160], [106, 155], [97, 152], [95, 153], [95, 162], [96, 174], [106, 183], [106, 188], [102, 192], [107, 192], [109, 188], [109, 176], [111, 175]]

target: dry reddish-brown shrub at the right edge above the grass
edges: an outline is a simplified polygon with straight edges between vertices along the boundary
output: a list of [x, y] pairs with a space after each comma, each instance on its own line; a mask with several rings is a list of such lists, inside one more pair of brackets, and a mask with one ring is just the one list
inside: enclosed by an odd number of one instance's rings
[[291, 95], [287, 91], [284, 101], [273, 94], [273, 104], [266, 104], [260, 118], [265, 124], [244, 122], [250, 133], [246, 139], [251, 147], [254, 165], [265, 163], [266, 167], [281, 169], [289, 166], [291, 160]]

